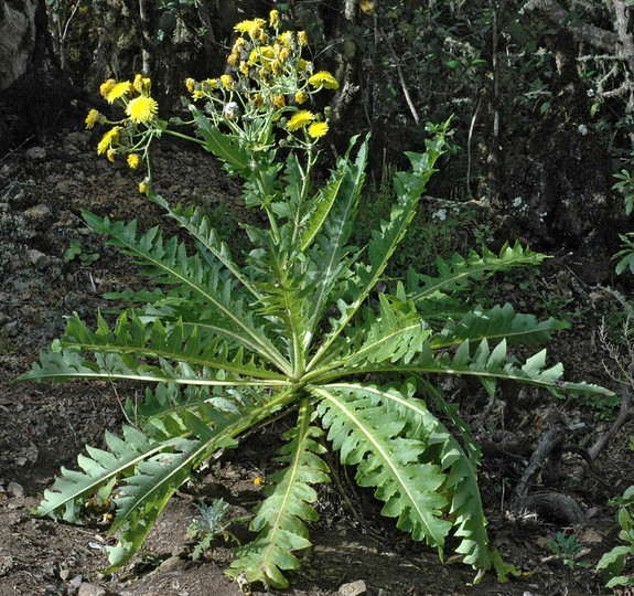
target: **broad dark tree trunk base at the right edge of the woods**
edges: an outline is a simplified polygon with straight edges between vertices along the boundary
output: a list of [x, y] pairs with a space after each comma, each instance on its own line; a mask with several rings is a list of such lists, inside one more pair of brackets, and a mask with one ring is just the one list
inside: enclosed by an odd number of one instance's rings
[[590, 105], [572, 34], [561, 30], [552, 45], [552, 99], [529, 141], [530, 159], [509, 180], [512, 220], [534, 248], [571, 251], [582, 279], [604, 281], [616, 240], [610, 153], [587, 124]]

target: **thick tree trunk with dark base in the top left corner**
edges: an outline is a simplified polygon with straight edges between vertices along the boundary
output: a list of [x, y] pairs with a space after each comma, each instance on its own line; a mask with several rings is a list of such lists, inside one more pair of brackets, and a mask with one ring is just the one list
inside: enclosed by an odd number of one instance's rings
[[0, 0], [0, 156], [54, 126], [73, 95], [52, 49], [45, 0]]

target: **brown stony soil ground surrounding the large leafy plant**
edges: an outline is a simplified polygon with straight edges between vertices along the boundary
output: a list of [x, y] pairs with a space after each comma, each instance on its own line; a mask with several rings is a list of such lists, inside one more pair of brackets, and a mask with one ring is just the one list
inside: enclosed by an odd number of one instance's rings
[[[105, 292], [147, 283], [136, 276], [127, 258], [90, 233], [79, 210], [122, 221], [139, 217], [143, 227], [157, 224], [160, 214], [138, 192], [140, 174], [98, 159], [98, 132], [80, 128], [78, 121], [0, 160], [0, 596], [243, 594], [223, 574], [232, 556], [228, 545], [218, 544], [214, 553], [194, 562], [186, 531], [197, 502], [223, 497], [236, 515], [252, 509], [261, 490], [254, 480], [267, 473], [277, 448], [270, 430], [250, 436], [239, 450], [184, 486], [142, 553], [112, 576], [98, 571], [106, 566], [105, 545], [114, 543], [100, 512], [79, 528], [31, 513], [60, 467], [76, 467], [86, 444], [103, 447], [104, 430], [116, 433], [120, 426], [120, 404], [142, 391], [127, 384], [13, 382], [29, 370], [40, 349], [62, 334], [65, 315], [77, 311], [94, 321], [98, 308], [114, 307], [103, 298]], [[243, 214], [238, 189], [211, 157], [162, 143], [153, 171], [166, 199], [204, 205], [223, 233], [238, 232]], [[72, 245], [80, 247], [73, 258], [66, 253]], [[600, 341], [602, 315], [608, 315], [608, 333], [616, 333], [623, 319], [610, 291], [584, 286], [562, 259], [549, 262], [531, 277], [507, 276], [491, 284], [518, 309], [542, 316], [565, 311], [572, 327], [549, 347], [550, 361], [563, 362], [568, 380], [620, 392], [608, 374], [615, 373], [615, 365]], [[533, 479], [531, 492], [548, 488], [573, 499], [584, 513], [582, 524], [571, 525], [552, 509], [511, 514], [508, 502], [552, 419], [569, 429], [567, 443], [588, 449], [612, 424], [619, 400], [612, 405], [561, 401], [530, 389], [506, 387], [501, 400], [488, 402], [481, 390], [463, 381], [444, 389], [461, 403], [461, 413], [483, 447], [481, 490], [492, 543], [522, 575], [498, 583], [488, 573], [471, 585], [474, 572], [451, 549], [441, 562], [433, 550], [411, 542], [379, 517], [372, 493], [354, 488], [352, 471], [335, 467], [337, 481], [320, 488], [320, 521], [311, 526], [313, 547], [302, 568], [291, 575], [287, 593], [357, 594], [359, 584], [354, 583], [363, 581], [370, 596], [610, 594], [594, 567], [615, 544], [614, 532], [609, 533], [614, 508], [608, 501], [634, 481], [634, 458], [627, 448], [634, 435], [632, 422], [601, 453], [598, 473], [579, 479], [583, 459], [567, 451], [549, 487], [541, 477]], [[583, 547], [572, 568], [549, 547], [557, 532], [574, 534]]]

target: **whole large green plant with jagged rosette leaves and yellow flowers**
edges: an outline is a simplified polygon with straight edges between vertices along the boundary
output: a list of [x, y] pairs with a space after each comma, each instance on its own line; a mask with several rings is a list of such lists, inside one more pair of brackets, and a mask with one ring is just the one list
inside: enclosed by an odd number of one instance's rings
[[[161, 120], [150, 81], [138, 75], [101, 86], [106, 100], [122, 107], [121, 120], [92, 110], [86, 124], [109, 125], [98, 153], [122, 156], [131, 168], [148, 162], [154, 138], [191, 138], [244, 179], [246, 204], [264, 210], [268, 225], [244, 225], [252, 251], [238, 267], [203, 210], [171, 206], [152, 189], [149, 163], [141, 192], [192, 243], [84, 212], [159, 289], [128, 294], [130, 308], [110, 324], [99, 317], [95, 330], [71, 317], [65, 336], [21, 379], [125, 379], [151, 389], [129, 405], [133, 424], [120, 436], [106, 434], [108, 450], [87, 446], [78, 456], [82, 471], [62, 469], [37, 514], [80, 523], [86, 500], [114, 501], [112, 572], [205, 460], [286, 415], [294, 425], [250, 522], [255, 538], [236, 550], [229, 575], [288, 585], [284, 572], [299, 567], [294, 553], [309, 546], [307, 522], [318, 517], [314, 487], [329, 480], [326, 450], [355, 467], [357, 483], [372, 487], [383, 514], [413, 540], [442, 555], [452, 536], [464, 563], [504, 575], [507, 567], [488, 547], [480, 449], [437, 379], [475, 376], [491, 394], [499, 379], [557, 394], [608, 393], [562, 382], [561, 366], [547, 368], [545, 352], [525, 363], [507, 353], [508, 344], [545, 342], [565, 323], [539, 322], [509, 305], [485, 310], [468, 299], [473, 280], [544, 255], [519, 245], [498, 254], [483, 248], [439, 259], [433, 275], [410, 269], [406, 280], [386, 279], [443, 152], [448, 124], [428, 126], [426, 152], [407, 153], [410, 171], [394, 177], [389, 216], [367, 246], [352, 246], [367, 138], [351, 140], [323, 187], [313, 182], [329, 119], [327, 110], [307, 107], [314, 94], [336, 89], [336, 79], [302, 57], [307, 34], [282, 31], [277, 11], [268, 22], [244, 21], [235, 30], [232, 74], [185, 82], [191, 121]], [[194, 137], [181, 131], [185, 125]]]

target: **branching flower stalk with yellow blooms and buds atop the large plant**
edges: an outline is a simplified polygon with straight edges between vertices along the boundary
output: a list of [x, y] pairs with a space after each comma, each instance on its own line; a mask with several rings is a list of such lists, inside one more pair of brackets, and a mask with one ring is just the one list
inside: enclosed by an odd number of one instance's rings
[[[127, 155], [132, 169], [141, 161], [147, 163], [148, 175], [139, 185], [141, 192], [151, 189], [149, 147], [154, 138], [169, 134], [203, 145], [225, 161], [229, 172], [252, 180], [257, 198], [254, 202], [251, 196], [249, 203], [259, 204], [267, 212], [275, 234], [277, 222], [271, 202], [277, 191], [269, 181], [277, 146], [305, 152], [301, 192], [305, 199], [315, 161], [314, 147], [329, 130], [329, 110], [316, 114], [303, 106], [322, 89], [339, 88], [339, 83], [326, 71], [314, 72], [312, 62], [301, 55], [308, 45], [307, 33], [281, 31], [277, 10], [270, 12], [268, 26], [264, 19], [254, 19], [241, 21], [234, 29], [239, 35], [227, 58], [232, 74], [201, 82], [185, 79], [190, 97], [183, 98], [183, 103], [193, 119], [172, 120], [179, 126], [196, 126], [203, 138], [173, 130], [170, 123], [158, 117], [151, 82], [140, 74], [132, 83], [108, 79], [100, 87], [109, 104], [123, 108], [125, 118], [108, 120], [93, 109], [86, 126], [112, 125], [98, 145], [99, 155], [105, 153], [110, 161], [118, 155]], [[276, 131], [284, 135], [277, 142]]]

